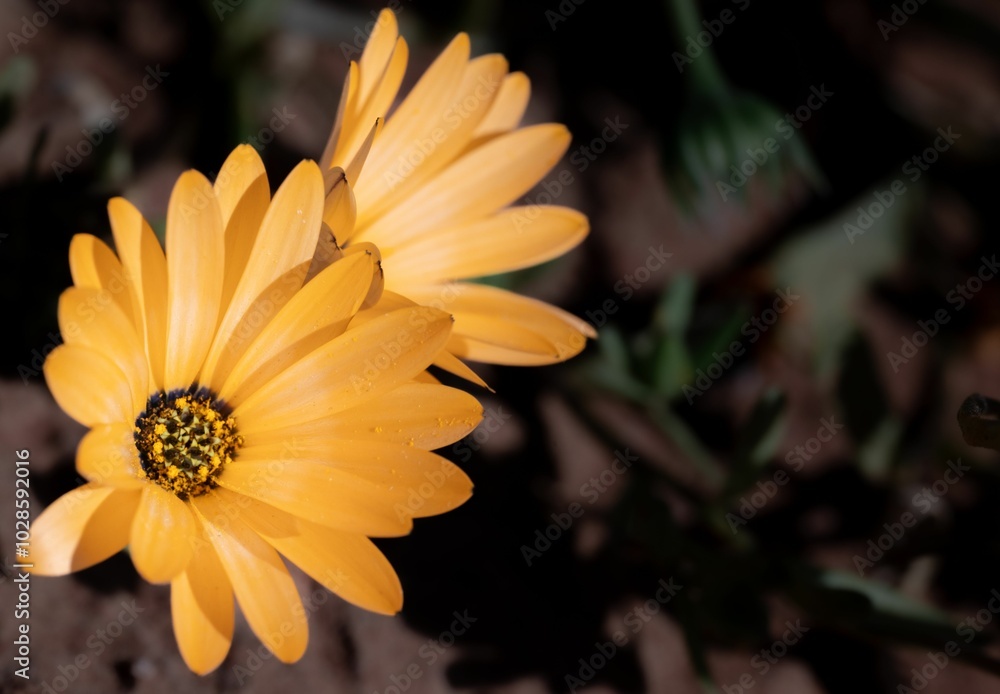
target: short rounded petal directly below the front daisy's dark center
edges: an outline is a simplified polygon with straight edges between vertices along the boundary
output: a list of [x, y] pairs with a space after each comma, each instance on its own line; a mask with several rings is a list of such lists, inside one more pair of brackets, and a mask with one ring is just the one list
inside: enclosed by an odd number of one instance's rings
[[186, 503], [157, 484], [147, 484], [132, 520], [132, 563], [150, 583], [168, 583], [188, 566], [198, 527]]

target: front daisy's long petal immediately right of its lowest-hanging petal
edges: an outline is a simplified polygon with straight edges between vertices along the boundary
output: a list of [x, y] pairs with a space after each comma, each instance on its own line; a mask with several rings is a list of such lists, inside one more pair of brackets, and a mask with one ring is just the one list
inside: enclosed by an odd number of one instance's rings
[[215, 494], [192, 502], [225, 568], [250, 628], [283, 663], [294, 663], [309, 642], [306, 612], [281, 557]]

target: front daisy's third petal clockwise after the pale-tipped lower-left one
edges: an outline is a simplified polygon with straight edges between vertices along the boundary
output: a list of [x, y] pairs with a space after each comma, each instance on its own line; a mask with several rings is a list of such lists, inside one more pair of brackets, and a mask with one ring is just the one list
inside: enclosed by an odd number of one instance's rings
[[106, 289], [70, 287], [59, 297], [59, 330], [68, 345], [87, 347], [117, 364], [132, 391], [132, 409], [149, 397], [149, 364], [131, 317]]

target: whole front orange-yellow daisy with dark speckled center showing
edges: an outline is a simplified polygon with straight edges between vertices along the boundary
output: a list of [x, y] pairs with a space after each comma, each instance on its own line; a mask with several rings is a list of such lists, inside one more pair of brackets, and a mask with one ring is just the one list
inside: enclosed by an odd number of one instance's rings
[[70, 246], [65, 344], [44, 371], [90, 427], [76, 460], [88, 483], [33, 523], [28, 562], [63, 575], [127, 545], [140, 575], [170, 583], [199, 674], [229, 650], [234, 596], [280, 660], [302, 656], [306, 612], [282, 555], [349, 602], [397, 612], [399, 580], [369, 537], [471, 494], [429, 452], [482, 417], [472, 396], [422, 380], [451, 319], [405, 308], [349, 327], [380, 270], [368, 252], [313, 265], [325, 195], [303, 162], [272, 200], [241, 146], [214, 186], [181, 175], [165, 252], [121, 198], [108, 205], [117, 256], [90, 235]]

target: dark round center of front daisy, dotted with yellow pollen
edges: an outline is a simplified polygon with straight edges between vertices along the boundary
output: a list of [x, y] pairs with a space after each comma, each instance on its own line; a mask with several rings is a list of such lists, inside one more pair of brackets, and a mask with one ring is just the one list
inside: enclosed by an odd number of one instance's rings
[[215, 487], [242, 444], [235, 420], [205, 389], [157, 393], [135, 420], [146, 478], [181, 499]]

